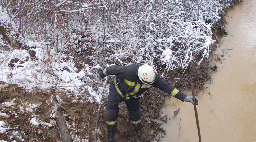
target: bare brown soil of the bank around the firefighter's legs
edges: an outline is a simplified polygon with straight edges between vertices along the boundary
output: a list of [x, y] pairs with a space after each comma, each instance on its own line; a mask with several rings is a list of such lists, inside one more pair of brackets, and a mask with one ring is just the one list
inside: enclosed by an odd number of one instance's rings
[[[157, 141], [161, 138], [164, 131], [160, 128], [159, 123], [154, 120], [161, 120], [160, 109], [164, 102], [163, 93], [156, 93], [156, 90], [145, 93], [141, 98], [142, 110], [142, 130], [145, 138], [148, 141]], [[53, 104], [51, 102], [52, 95], [58, 96], [61, 99], [61, 105], [65, 120], [67, 121], [70, 132], [78, 136], [80, 140], [87, 139], [90, 142], [95, 141], [95, 128], [97, 120], [97, 112], [99, 103], [90, 102], [89, 100], [75, 98], [75, 95], [67, 95], [65, 93], [49, 93], [41, 90], [34, 90], [27, 92], [24, 88], [17, 87], [11, 84], [5, 88], [1, 88], [0, 107], [1, 113], [10, 115], [10, 118], [1, 118], [0, 121], [7, 123], [4, 127], [11, 128], [8, 132], [13, 133], [18, 138], [24, 141], [61, 141], [58, 127], [56, 126], [56, 119], [52, 118]], [[15, 105], [6, 106], [4, 102], [11, 102], [14, 100]], [[79, 100], [72, 102], [72, 100]], [[102, 104], [98, 119], [98, 135], [97, 137], [105, 142], [107, 141], [107, 129], [105, 124], [105, 107], [106, 100]], [[27, 108], [34, 105], [38, 107], [34, 112], [26, 111]], [[21, 107], [23, 111], [21, 111]], [[15, 113], [12, 113], [15, 112]], [[45, 125], [32, 125], [30, 120], [36, 118], [40, 122], [49, 123], [52, 127], [45, 127]], [[151, 120], [152, 119], [152, 120]], [[115, 133], [116, 142], [136, 142], [139, 140], [137, 134], [134, 132], [129, 118], [128, 110], [124, 103], [119, 105], [118, 127]], [[6, 133], [8, 133], [6, 132]], [[16, 132], [16, 133], [15, 133]], [[73, 138], [74, 141], [79, 141], [78, 138]], [[0, 135], [0, 140], [10, 140], [9, 135], [3, 133]]]

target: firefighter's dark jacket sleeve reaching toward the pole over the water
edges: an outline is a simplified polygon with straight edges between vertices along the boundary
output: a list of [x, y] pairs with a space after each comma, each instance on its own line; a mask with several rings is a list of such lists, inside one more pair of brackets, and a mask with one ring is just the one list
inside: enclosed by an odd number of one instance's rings
[[170, 82], [164, 81], [158, 74], [156, 74], [156, 83], [153, 85], [153, 87], [161, 89], [162, 91], [174, 96], [182, 102], [184, 102], [184, 99], [187, 96], [186, 94], [180, 92], [178, 89], [174, 88]]

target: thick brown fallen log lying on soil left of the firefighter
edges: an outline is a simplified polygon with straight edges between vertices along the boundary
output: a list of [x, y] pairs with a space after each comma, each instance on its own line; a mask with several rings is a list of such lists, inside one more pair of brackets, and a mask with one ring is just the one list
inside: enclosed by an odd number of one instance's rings
[[56, 96], [52, 96], [52, 102], [53, 102], [54, 110], [56, 110], [56, 120], [57, 120], [57, 126], [60, 130], [61, 141], [72, 142], [72, 137], [67, 128], [66, 120], [62, 114], [60, 103], [58, 102]]

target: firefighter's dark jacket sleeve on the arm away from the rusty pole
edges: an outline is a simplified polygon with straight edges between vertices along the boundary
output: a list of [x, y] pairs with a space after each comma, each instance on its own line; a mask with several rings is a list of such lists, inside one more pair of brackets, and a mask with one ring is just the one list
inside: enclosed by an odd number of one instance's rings
[[105, 68], [104, 70], [99, 72], [99, 75], [101, 77], [105, 77], [108, 75], [116, 75], [116, 76], [120, 76], [122, 74], [125, 73], [125, 68], [124, 66], [117, 66], [117, 65], [111, 65], [107, 68]]

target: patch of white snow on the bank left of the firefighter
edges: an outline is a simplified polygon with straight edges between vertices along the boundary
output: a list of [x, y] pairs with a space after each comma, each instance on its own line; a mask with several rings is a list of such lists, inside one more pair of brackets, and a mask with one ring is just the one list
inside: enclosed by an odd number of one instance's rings
[[[34, 43], [33, 45], [38, 44]], [[41, 47], [33, 50], [36, 51], [35, 56], [38, 58], [36, 61], [30, 58], [26, 50], [14, 49], [10, 52], [1, 52], [0, 80], [7, 85], [19, 84], [20, 87], [28, 90], [35, 87], [49, 90], [52, 86], [58, 86], [58, 88], [65, 88], [74, 93], [81, 93], [82, 90], [79, 86], [85, 85], [81, 78], [84, 75], [92, 75], [91, 68], [101, 68], [99, 65], [95, 67], [87, 65], [86, 68], [77, 72], [74, 62], [72, 60], [64, 61], [63, 59], [67, 59], [67, 56], [62, 54], [62, 58], [51, 61], [53, 69], [51, 71], [44, 50]], [[9, 67], [10, 63], [13, 68]], [[57, 76], [52, 76], [53, 73]]]

